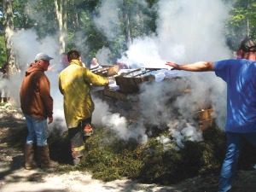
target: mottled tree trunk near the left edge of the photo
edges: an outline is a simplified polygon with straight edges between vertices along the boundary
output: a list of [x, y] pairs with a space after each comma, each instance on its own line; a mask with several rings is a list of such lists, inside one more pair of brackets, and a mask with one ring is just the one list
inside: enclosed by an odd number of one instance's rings
[[9, 74], [12, 75], [18, 72], [19, 67], [17, 66], [15, 50], [13, 49], [13, 42], [11, 39], [14, 34], [14, 18], [11, 0], [3, 0], [3, 26]]

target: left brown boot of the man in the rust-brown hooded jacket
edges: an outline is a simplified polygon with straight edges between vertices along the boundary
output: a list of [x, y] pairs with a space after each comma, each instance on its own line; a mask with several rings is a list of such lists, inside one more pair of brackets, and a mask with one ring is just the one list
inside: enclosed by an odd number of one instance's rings
[[34, 161], [34, 148], [32, 144], [25, 144], [24, 156], [26, 170], [31, 170], [37, 166], [37, 164]]

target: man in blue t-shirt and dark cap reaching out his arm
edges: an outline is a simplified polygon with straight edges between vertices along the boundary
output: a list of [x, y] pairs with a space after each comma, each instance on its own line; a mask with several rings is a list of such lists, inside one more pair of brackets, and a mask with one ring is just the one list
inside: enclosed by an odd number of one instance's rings
[[238, 53], [241, 59], [199, 61], [185, 65], [166, 62], [166, 65], [176, 70], [214, 71], [227, 84], [227, 151], [220, 172], [218, 192], [229, 191], [232, 187], [244, 139], [256, 147], [256, 41], [244, 39]]

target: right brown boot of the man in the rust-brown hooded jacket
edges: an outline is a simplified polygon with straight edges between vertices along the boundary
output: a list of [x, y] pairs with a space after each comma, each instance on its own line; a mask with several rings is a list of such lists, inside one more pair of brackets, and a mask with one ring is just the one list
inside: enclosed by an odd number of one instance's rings
[[55, 161], [49, 160], [49, 146], [38, 146], [38, 155], [40, 160], [40, 166], [44, 168], [54, 168], [59, 166]]

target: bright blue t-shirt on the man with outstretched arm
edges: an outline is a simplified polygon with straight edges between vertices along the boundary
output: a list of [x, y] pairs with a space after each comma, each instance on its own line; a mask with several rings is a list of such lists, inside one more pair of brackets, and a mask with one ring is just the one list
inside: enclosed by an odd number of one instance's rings
[[216, 75], [227, 83], [227, 121], [230, 132], [256, 132], [256, 62], [214, 62]]

